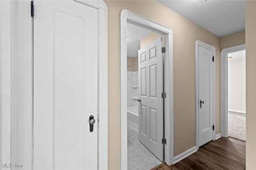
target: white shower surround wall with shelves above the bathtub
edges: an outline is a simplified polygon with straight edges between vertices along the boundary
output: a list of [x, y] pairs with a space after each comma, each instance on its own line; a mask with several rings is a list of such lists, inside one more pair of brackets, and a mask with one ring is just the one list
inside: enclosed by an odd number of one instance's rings
[[138, 106], [138, 71], [127, 71], [127, 106]]

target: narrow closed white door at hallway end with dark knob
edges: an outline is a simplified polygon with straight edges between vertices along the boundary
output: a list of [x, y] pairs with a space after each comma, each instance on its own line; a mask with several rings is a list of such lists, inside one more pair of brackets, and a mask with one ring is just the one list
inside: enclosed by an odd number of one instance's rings
[[199, 46], [199, 147], [213, 139], [213, 51]]

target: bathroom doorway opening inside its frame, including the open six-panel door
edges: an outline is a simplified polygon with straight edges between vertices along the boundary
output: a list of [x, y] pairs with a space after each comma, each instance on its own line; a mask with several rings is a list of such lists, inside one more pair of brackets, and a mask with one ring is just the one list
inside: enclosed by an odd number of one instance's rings
[[[164, 146], [161, 145], [162, 135], [159, 134], [163, 133], [163, 105], [161, 102], [163, 99], [161, 93], [158, 93], [158, 96], [156, 94], [157, 90], [162, 89], [160, 81], [163, 75], [161, 71], [158, 72], [162, 66], [157, 63], [157, 58], [164, 57], [164, 53], [161, 53], [161, 48], [164, 47], [161, 37], [162, 35], [158, 33], [127, 23], [128, 170], [151, 169], [163, 161], [161, 150]], [[160, 45], [157, 46], [154, 42], [160, 42]], [[151, 64], [147, 62], [151, 62]], [[162, 60], [159, 62], [161, 65], [163, 64]], [[158, 67], [159, 69], [157, 69]], [[161, 85], [160, 88], [157, 88], [157, 84]], [[151, 95], [147, 98], [147, 94], [150, 93]], [[161, 100], [160, 108], [154, 106], [149, 100], [154, 100], [153, 102]], [[148, 116], [150, 121], [147, 119]]]

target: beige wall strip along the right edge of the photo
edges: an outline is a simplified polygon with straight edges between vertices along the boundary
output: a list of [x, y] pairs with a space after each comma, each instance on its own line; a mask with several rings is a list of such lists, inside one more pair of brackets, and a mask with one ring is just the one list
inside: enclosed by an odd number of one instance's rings
[[246, 169], [256, 169], [256, 1], [246, 0]]

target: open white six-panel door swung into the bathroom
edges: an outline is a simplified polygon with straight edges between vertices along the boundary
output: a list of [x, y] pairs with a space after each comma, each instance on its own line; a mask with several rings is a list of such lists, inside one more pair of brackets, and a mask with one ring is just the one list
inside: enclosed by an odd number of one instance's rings
[[139, 141], [163, 161], [162, 37], [138, 51]]

